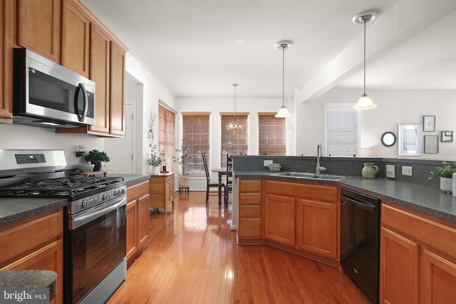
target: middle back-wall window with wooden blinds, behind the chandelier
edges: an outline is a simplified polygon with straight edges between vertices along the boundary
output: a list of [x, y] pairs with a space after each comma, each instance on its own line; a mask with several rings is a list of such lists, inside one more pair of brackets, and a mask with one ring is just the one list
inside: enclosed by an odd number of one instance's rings
[[230, 155], [247, 155], [249, 152], [249, 126], [248, 113], [237, 113], [237, 120], [244, 126], [244, 129], [237, 134], [231, 134], [227, 130], [227, 125], [234, 119], [234, 113], [220, 113], [220, 164], [227, 166], [227, 154]]

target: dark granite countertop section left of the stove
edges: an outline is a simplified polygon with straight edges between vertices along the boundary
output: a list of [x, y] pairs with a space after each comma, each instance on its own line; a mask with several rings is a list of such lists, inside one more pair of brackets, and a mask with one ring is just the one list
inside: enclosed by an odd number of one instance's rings
[[46, 198], [0, 198], [0, 226], [28, 219], [47, 211], [56, 210], [68, 204], [67, 199]]

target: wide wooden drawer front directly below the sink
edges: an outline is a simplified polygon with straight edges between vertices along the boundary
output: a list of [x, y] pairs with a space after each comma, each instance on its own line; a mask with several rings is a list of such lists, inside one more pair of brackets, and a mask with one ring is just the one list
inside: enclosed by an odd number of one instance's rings
[[339, 188], [337, 186], [326, 184], [307, 184], [266, 180], [264, 189], [266, 189], [266, 193], [269, 194], [286, 194], [287, 196], [326, 201], [334, 204], [339, 201]]

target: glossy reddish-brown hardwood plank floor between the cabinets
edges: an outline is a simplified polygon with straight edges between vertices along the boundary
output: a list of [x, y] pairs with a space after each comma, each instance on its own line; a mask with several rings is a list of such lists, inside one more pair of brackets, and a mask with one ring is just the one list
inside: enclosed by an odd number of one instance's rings
[[177, 192], [174, 210], [150, 214], [147, 248], [113, 303], [369, 303], [336, 268], [268, 246], [239, 246], [231, 205]]

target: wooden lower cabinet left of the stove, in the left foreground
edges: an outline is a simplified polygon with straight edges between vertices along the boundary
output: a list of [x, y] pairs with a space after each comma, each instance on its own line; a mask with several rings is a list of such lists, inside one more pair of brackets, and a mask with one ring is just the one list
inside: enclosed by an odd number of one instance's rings
[[0, 227], [0, 269], [57, 273], [56, 297], [63, 303], [63, 209]]

